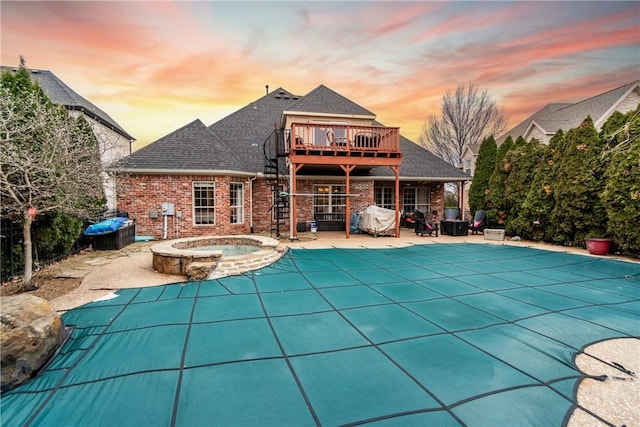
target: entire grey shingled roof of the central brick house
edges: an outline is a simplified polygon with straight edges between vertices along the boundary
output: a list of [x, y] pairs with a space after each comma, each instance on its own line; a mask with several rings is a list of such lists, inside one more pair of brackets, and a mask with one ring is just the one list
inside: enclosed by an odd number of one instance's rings
[[[327, 107], [323, 101], [332, 107]], [[208, 128], [196, 120], [132, 153], [119, 167], [139, 173], [261, 173], [264, 142], [275, 126], [281, 125], [285, 111], [375, 117], [371, 111], [322, 85], [304, 97], [278, 88]], [[376, 122], [376, 125], [381, 124]], [[470, 179], [464, 172], [404, 137], [401, 137], [400, 147], [404, 153], [400, 169], [403, 179]], [[393, 174], [388, 167], [378, 167], [372, 170], [371, 176]]]

